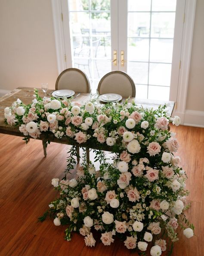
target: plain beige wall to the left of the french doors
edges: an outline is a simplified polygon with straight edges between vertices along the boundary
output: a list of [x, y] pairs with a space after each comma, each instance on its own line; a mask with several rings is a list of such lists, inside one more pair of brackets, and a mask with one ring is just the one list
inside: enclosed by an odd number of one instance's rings
[[58, 76], [50, 0], [0, 0], [0, 90], [55, 87]]

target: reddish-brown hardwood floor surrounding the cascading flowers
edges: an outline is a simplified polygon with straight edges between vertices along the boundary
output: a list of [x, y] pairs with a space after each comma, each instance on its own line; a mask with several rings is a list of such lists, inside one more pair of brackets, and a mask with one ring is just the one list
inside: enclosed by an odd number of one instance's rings
[[[177, 133], [177, 155], [188, 174], [192, 207], [187, 212], [195, 225], [195, 236], [180, 234], [173, 256], [204, 256], [204, 129], [171, 127]], [[42, 142], [0, 134], [0, 256], [129, 256], [137, 255], [119, 240], [103, 246], [85, 246], [83, 237], [74, 234], [71, 242], [63, 239], [65, 227], [56, 227], [51, 219], [37, 218], [56, 197], [51, 179], [62, 178], [66, 166], [66, 145], [52, 143], [43, 156]]]

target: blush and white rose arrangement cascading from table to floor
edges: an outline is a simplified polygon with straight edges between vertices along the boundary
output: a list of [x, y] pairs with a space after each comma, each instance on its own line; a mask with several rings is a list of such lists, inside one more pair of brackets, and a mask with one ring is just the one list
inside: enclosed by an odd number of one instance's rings
[[[151, 256], [159, 256], [167, 243], [178, 240], [176, 229], [193, 236], [193, 225], [185, 218], [185, 171], [174, 153], [179, 144], [169, 122], [179, 125], [178, 116], [170, 118], [166, 106], [145, 109], [135, 102], [98, 105], [96, 99], [80, 104], [71, 99], [41, 99], [35, 90], [30, 105], [19, 99], [5, 109], [5, 122], [18, 125], [25, 135], [37, 138], [41, 133], [66, 137], [80, 145], [84, 143], [109, 146], [114, 157], [107, 159], [104, 151], [95, 150], [95, 162], [87, 163], [86, 150], [77, 167], [75, 179], [53, 179], [59, 197], [49, 204], [48, 213], [54, 224], [68, 224], [65, 239], [71, 232], [84, 236], [87, 246], [95, 246], [93, 230], [101, 233], [107, 246], [120, 237], [128, 249], [138, 249], [145, 255], [151, 242]], [[69, 151], [66, 172], [75, 163], [75, 146]]]

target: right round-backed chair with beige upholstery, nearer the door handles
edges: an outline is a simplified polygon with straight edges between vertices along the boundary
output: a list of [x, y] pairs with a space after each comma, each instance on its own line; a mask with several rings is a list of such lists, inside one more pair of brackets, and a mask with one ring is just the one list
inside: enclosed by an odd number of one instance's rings
[[123, 97], [135, 97], [135, 84], [131, 77], [122, 71], [112, 71], [99, 82], [99, 94], [117, 93]]

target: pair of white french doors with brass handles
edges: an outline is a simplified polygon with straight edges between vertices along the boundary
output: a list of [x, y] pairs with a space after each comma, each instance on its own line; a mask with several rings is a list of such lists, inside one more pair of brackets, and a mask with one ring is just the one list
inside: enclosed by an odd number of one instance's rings
[[185, 0], [61, 3], [66, 67], [83, 70], [92, 92], [103, 75], [122, 70], [137, 98], [176, 101]]

